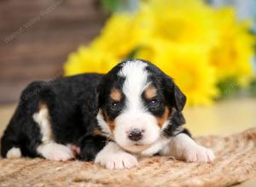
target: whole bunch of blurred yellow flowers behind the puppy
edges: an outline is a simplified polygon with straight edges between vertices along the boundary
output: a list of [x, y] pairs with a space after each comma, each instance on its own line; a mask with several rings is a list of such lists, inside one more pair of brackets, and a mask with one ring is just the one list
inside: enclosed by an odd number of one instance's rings
[[250, 82], [248, 28], [236, 22], [233, 9], [210, 8], [202, 0], [141, 1], [137, 13], [113, 14], [89, 46], [69, 55], [64, 70], [106, 73], [135, 54], [174, 77], [189, 105], [207, 105], [218, 95], [218, 82]]

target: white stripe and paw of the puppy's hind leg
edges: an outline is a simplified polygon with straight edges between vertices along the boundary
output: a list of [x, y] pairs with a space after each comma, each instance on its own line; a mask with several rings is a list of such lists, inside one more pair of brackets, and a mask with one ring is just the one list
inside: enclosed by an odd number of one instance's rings
[[38, 123], [42, 135], [41, 144], [37, 147], [37, 152], [49, 160], [67, 161], [73, 159], [73, 151], [63, 144], [56, 144], [51, 132], [49, 122], [49, 112], [46, 105], [41, 105], [40, 110], [33, 115], [33, 120]]

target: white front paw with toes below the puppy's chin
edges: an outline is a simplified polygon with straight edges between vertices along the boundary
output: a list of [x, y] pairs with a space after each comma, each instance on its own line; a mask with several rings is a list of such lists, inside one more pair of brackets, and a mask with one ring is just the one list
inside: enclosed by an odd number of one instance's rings
[[112, 156], [97, 156], [96, 163], [105, 166], [107, 169], [128, 169], [137, 166], [136, 156], [131, 154], [120, 152]]

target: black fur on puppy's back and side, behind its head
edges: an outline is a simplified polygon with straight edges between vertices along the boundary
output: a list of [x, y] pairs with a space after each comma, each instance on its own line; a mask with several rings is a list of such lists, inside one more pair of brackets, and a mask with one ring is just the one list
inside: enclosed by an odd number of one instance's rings
[[[36, 147], [42, 143], [42, 137], [32, 115], [39, 110], [39, 103], [44, 103], [49, 108], [56, 143], [80, 146], [88, 144], [88, 137], [84, 134], [92, 133], [97, 124], [96, 86], [101, 78], [100, 74], [84, 74], [28, 85], [21, 94], [15, 115], [3, 133], [2, 156], [5, 157], [12, 147], [19, 147], [23, 156], [38, 156]], [[81, 137], [84, 140], [80, 140]], [[90, 146], [101, 150], [103, 144], [95, 142]]]

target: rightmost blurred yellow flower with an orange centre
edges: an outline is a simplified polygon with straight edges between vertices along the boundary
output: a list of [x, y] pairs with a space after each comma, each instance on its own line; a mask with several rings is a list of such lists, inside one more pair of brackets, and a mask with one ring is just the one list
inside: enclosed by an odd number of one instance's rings
[[247, 25], [238, 25], [232, 8], [218, 11], [218, 45], [212, 48], [211, 61], [216, 67], [219, 80], [234, 77], [246, 85], [253, 77], [253, 37], [248, 33]]

